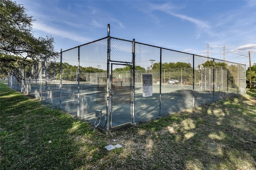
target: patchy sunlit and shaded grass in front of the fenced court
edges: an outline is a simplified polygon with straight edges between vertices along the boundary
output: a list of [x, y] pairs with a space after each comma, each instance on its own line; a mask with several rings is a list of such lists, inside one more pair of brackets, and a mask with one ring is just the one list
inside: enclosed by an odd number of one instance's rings
[[[254, 170], [255, 96], [251, 90], [106, 136], [0, 84], [0, 169]], [[107, 151], [110, 144], [123, 147]]]

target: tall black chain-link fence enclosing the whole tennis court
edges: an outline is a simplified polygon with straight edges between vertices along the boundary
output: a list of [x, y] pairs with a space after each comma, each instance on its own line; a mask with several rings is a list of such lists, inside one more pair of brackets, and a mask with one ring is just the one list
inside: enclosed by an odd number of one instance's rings
[[57, 56], [10, 71], [8, 85], [106, 131], [246, 93], [244, 64], [135, 41], [105, 37]]

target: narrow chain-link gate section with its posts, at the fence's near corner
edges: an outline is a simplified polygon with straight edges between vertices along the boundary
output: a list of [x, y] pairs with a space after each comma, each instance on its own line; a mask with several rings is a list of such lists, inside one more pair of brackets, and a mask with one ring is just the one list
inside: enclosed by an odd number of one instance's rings
[[135, 39], [126, 41], [113, 38], [111, 45], [110, 40], [108, 24], [107, 131], [135, 123]]

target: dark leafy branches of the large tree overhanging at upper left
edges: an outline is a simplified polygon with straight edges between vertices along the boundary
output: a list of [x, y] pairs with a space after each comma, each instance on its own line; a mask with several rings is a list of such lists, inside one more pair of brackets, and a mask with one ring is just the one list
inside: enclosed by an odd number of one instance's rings
[[34, 37], [32, 31], [34, 21], [26, 14], [26, 8], [21, 4], [11, 0], [0, 0], [1, 68], [5, 66], [18, 74], [18, 67], [25, 68], [32, 61], [55, 53], [52, 37]]

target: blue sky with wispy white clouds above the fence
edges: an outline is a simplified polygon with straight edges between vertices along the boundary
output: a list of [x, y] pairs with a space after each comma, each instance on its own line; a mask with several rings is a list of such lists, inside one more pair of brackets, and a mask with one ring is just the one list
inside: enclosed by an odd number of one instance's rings
[[249, 66], [256, 63], [253, 0], [17, 0], [36, 20], [35, 37], [54, 37], [56, 51], [107, 36]]

